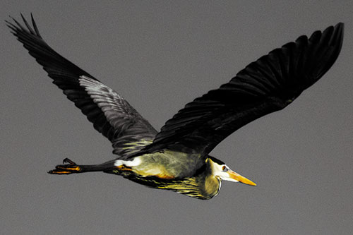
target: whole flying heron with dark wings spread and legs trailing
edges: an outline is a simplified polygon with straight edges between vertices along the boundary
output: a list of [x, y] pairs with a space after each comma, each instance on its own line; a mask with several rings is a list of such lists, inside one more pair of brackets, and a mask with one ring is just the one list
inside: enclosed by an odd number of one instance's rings
[[274, 49], [229, 83], [186, 104], [158, 132], [116, 91], [49, 47], [32, 14], [32, 25], [21, 17], [24, 25], [14, 18], [6, 20], [13, 35], [68, 100], [110, 140], [116, 155], [93, 165], [66, 158], [48, 173], [102, 171], [199, 199], [217, 195], [222, 180], [256, 186], [209, 153], [241, 126], [287, 107], [316, 83], [340, 54], [344, 31], [344, 24], [337, 23]]

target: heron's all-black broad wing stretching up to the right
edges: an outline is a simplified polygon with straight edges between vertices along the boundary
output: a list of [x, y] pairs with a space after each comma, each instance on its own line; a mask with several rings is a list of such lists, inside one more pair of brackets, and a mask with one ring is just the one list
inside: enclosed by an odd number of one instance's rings
[[167, 148], [205, 156], [241, 126], [285, 108], [333, 65], [343, 28], [338, 23], [262, 56], [229, 83], [186, 104], [142, 151]]

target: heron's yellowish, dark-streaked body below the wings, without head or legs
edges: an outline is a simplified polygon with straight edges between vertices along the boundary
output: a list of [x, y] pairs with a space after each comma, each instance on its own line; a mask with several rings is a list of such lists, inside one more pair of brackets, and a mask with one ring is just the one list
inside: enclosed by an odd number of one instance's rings
[[[182, 155], [184, 156], [181, 157], [181, 161], [171, 160], [178, 159]], [[198, 158], [198, 156], [195, 157]], [[191, 162], [190, 158], [193, 157], [183, 153], [178, 155], [176, 152], [160, 152], [158, 155], [135, 157], [131, 162], [116, 160], [114, 165], [118, 169], [114, 169], [112, 174], [122, 175], [126, 179], [151, 188], [172, 190], [200, 199], [213, 198], [219, 193], [221, 186], [220, 176], [213, 174], [218, 170], [217, 164], [213, 160], [217, 160], [208, 157], [205, 161], [198, 158], [195, 160], [196, 162]], [[136, 162], [138, 163], [136, 167], [125, 167]], [[122, 167], [120, 168], [120, 166]], [[253, 185], [255, 184], [253, 183]]]

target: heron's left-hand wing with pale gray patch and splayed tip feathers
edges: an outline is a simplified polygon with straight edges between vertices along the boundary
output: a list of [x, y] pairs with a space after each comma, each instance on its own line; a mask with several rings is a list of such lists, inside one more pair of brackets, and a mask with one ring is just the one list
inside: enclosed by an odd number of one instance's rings
[[33, 27], [25, 18], [23, 22], [26, 28], [15, 19], [15, 23], [6, 23], [18, 41], [47, 71], [53, 83], [63, 90], [68, 100], [74, 102], [94, 128], [112, 142], [114, 153], [127, 157], [152, 143], [157, 133], [155, 128], [121, 95], [49, 47], [42, 39], [32, 15], [31, 19]]

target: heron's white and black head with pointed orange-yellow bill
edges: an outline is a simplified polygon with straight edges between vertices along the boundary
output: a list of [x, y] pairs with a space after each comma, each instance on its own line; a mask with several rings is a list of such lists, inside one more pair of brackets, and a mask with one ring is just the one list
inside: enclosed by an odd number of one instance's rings
[[207, 162], [210, 166], [213, 176], [219, 179], [225, 181], [241, 182], [251, 186], [256, 186], [256, 183], [253, 183], [253, 181], [246, 179], [244, 176], [241, 176], [237, 172], [232, 171], [224, 162], [215, 157], [208, 156]]

